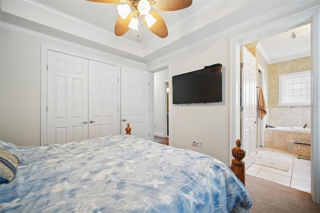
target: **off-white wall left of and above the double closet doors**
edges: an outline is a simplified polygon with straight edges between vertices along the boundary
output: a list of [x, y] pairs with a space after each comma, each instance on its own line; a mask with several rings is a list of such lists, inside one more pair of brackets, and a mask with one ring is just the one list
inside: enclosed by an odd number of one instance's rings
[[0, 138], [17, 145], [40, 145], [41, 44], [86, 55], [89, 59], [145, 69], [144, 64], [131, 64], [122, 58], [108, 58], [103, 53], [75, 49], [3, 28], [0, 33]]

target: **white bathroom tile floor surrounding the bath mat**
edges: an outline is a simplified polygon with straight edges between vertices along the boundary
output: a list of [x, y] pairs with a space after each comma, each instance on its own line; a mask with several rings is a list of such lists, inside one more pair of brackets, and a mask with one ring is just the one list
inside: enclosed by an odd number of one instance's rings
[[245, 169], [245, 173], [281, 185], [286, 185], [301, 191], [311, 192], [311, 162], [307, 159], [297, 158], [297, 154], [275, 149], [259, 147], [259, 155], [277, 155], [279, 157], [290, 157], [293, 163], [288, 171], [279, 170], [267, 166], [255, 164], [254, 162]]

